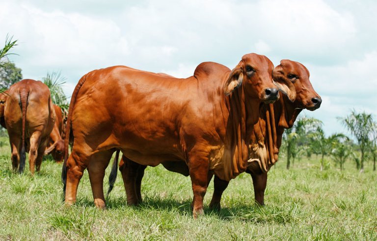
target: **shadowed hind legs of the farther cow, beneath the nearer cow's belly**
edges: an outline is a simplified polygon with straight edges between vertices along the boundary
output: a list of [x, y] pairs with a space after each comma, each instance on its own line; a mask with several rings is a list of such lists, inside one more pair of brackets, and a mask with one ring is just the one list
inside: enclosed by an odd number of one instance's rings
[[119, 162], [128, 205], [137, 205], [141, 202], [141, 180], [145, 168], [146, 166], [135, 163], [124, 155]]

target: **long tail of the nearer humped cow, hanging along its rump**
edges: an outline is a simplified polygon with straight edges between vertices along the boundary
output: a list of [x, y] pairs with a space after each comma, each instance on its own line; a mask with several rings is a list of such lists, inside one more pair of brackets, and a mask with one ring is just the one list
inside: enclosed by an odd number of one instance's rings
[[63, 162], [63, 167], [61, 170], [61, 182], [64, 185], [63, 186], [63, 200], [65, 200], [65, 188], [67, 186], [67, 160], [68, 160], [69, 135], [71, 132], [72, 113], [75, 107], [76, 97], [79, 94], [81, 86], [84, 84], [85, 80], [86, 80], [86, 74], [81, 77], [81, 79], [79, 80], [79, 83], [76, 85], [76, 88], [72, 93], [71, 102], [69, 104], [69, 109], [68, 109], [67, 126], [65, 130], [66, 137], [64, 139], [64, 162]]

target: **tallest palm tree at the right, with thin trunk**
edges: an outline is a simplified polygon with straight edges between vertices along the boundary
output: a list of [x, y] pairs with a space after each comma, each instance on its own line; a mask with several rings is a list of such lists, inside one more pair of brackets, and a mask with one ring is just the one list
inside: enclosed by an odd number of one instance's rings
[[372, 114], [356, 113], [355, 110], [352, 110], [350, 115], [338, 119], [357, 140], [361, 152], [360, 172], [364, 172], [365, 152], [370, 148], [371, 135], [373, 135], [376, 128]]

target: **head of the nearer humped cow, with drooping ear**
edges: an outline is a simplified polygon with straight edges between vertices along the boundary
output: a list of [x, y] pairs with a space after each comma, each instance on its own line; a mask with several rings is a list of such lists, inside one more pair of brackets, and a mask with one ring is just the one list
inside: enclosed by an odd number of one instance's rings
[[256, 53], [243, 55], [225, 83], [225, 95], [242, 85], [248, 98], [273, 103], [279, 98], [279, 91], [272, 82], [272, 70], [273, 64], [266, 56]]

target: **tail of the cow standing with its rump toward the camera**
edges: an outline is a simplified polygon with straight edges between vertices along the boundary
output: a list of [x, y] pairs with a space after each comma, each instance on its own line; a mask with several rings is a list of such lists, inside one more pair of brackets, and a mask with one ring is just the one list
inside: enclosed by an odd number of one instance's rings
[[25, 150], [25, 129], [26, 129], [26, 109], [27, 99], [29, 97], [29, 90], [20, 90], [20, 107], [22, 113], [22, 137], [21, 137], [21, 152], [20, 152], [20, 166], [18, 168], [19, 173], [23, 173], [26, 162], [26, 150]]

